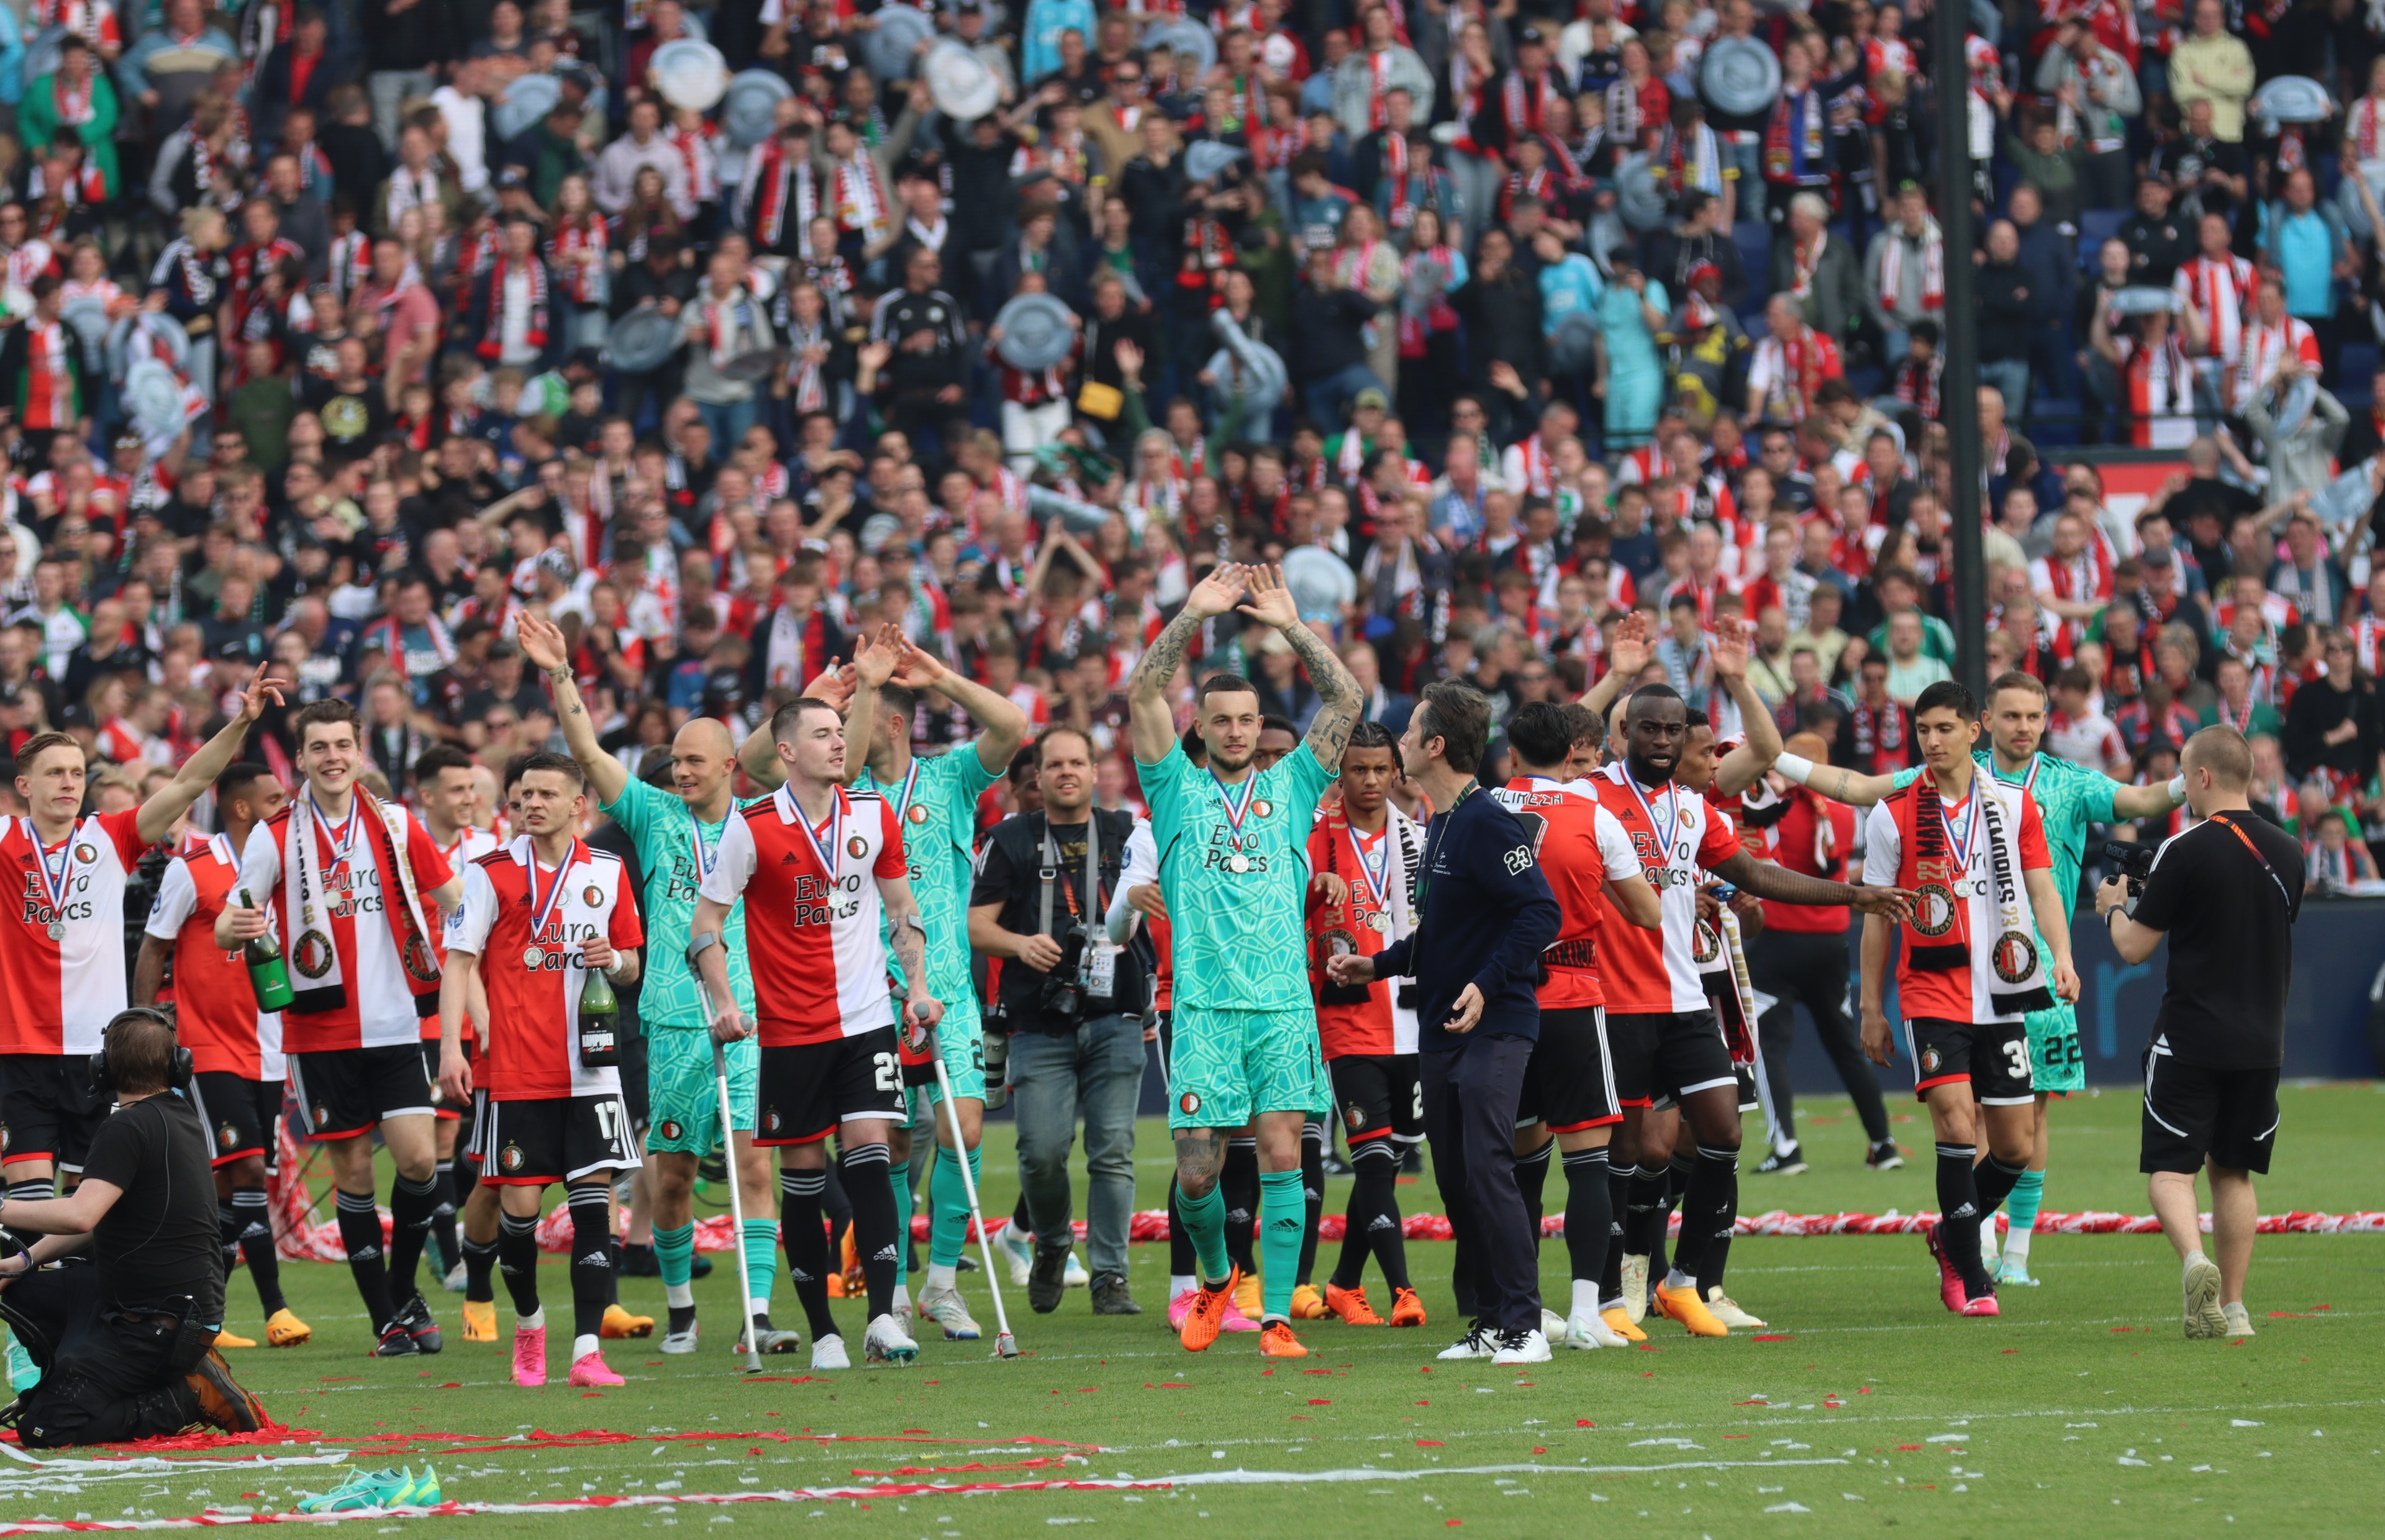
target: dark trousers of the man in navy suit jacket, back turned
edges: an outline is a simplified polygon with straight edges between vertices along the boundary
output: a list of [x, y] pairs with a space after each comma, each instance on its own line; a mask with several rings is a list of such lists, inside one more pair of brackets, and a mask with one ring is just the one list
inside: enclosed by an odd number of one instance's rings
[[1514, 1109], [1529, 1063], [1531, 1042], [1507, 1032], [1467, 1037], [1455, 1054], [1424, 1054], [1433, 1180], [1474, 1283], [1474, 1318], [1493, 1330], [1541, 1325], [1541, 1261], [1514, 1190]]

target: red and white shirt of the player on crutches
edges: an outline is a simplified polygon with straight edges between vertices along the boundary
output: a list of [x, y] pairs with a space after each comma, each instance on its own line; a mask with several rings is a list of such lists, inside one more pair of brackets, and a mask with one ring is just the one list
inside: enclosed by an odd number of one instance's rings
[[747, 965], [761, 1047], [859, 1037], [894, 1023], [878, 882], [909, 877], [902, 825], [875, 791], [837, 787], [811, 822], [780, 787], [720, 832], [699, 889], [718, 903], [744, 899]]

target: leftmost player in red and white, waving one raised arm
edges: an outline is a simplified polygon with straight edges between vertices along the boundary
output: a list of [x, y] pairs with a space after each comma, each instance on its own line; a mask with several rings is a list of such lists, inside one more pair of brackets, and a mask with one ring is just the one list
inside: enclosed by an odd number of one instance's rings
[[[0, 1180], [7, 1197], [45, 1199], [64, 1173], [72, 1192], [107, 1104], [91, 1094], [91, 1054], [124, 1011], [124, 882], [238, 756], [281, 679], [258, 665], [241, 708], [138, 808], [83, 818], [83, 746], [41, 732], [17, 749], [24, 818], [0, 827], [0, 870], [14, 873], [17, 908], [0, 915]], [[38, 1371], [21, 1345], [10, 1376]]]

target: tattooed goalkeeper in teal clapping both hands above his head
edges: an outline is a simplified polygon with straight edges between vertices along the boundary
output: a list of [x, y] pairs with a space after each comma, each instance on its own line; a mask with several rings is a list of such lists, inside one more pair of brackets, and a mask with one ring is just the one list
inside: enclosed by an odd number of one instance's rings
[[[1238, 603], [1245, 591], [1247, 603]], [[1259, 770], [1257, 689], [1235, 675], [1209, 675], [1195, 696], [1209, 765], [1195, 770], [1176, 741], [1169, 689], [1192, 634], [1235, 610], [1271, 625], [1293, 646], [1319, 696], [1317, 720], [1297, 749]], [[1309, 1352], [1290, 1323], [1307, 1223], [1300, 1125], [1333, 1104], [1333, 1089], [1307, 980], [1307, 839], [1317, 799], [1340, 772], [1359, 706], [1357, 682], [1300, 620], [1283, 575], [1235, 563], [1219, 565], [1185, 596], [1128, 684], [1135, 768], [1152, 808], [1176, 949], [1169, 1128], [1176, 1130], [1178, 1206], [1200, 1271], [1181, 1333], [1192, 1352], [1216, 1340], [1240, 1278], [1226, 1259], [1226, 1204], [1216, 1178], [1226, 1140], [1252, 1118], [1266, 1280], [1259, 1352], [1276, 1359]]]

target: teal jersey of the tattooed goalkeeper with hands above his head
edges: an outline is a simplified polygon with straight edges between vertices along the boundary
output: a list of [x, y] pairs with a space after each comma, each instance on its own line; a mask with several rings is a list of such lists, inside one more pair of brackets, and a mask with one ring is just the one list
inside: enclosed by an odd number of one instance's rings
[[1307, 744], [1235, 787], [1240, 796], [1197, 770], [1181, 744], [1135, 770], [1169, 901], [1176, 1008], [1312, 1006], [1309, 830], [1333, 772]]

